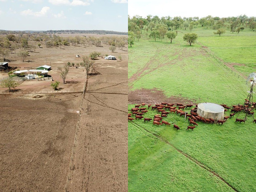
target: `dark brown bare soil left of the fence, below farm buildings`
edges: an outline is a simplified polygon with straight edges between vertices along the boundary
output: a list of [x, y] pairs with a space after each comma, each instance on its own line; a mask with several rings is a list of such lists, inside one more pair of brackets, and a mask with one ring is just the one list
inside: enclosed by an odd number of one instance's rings
[[81, 96], [0, 95], [0, 191], [64, 191]]

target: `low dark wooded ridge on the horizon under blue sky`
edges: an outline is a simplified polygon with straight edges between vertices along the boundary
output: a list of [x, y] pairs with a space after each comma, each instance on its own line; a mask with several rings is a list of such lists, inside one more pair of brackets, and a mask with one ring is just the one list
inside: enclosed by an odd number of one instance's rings
[[116, 35], [128, 35], [128, 32], [120, 32], [120, 31], [106, 31], [106, 30], [47, 30], [47, 31], [8, 31], [8, 30], [0, 30], [0, 34], [10, 34], [10, 33], [46, 33], [46, 34], [55, 34], [55, 33], [85, 33], [85, 34], [116, 34]]

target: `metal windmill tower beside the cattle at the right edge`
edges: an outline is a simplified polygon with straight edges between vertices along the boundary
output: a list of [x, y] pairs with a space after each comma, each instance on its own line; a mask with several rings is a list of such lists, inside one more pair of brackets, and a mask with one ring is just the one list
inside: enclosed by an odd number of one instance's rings
[[[251, 84], [251, 86], [250, 86], [251, 89], [250, 89], [250, 91], [247, 91], [248, 95], [247, 95], [244, 105], [243, 105], [245, 108], [244, 109], [245, 110], [245, 120], [246, 120], [248, 114], [251, 113], [251, 111], [249, 110], [249, 107], [251, 107], [253, 105], [253, 93], [255, 93], [255, 92], [253, 92], [253, 86], [256, 85], [256, 73], [251, 73], [248, 76], [248, 78], [246, 80], [246, 84], [248, 82]], [[252, 112], [253, 112], [253, 109], [254, 109], [254, 107], [252, 107]], [[252, 115], [253, 115], [253, 119], [254, 119], [254, 112], [252, 113]]]

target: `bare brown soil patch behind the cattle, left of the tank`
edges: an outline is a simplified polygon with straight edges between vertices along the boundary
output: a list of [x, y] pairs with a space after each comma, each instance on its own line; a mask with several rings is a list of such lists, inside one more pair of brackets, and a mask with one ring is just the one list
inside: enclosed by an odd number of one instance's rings
[[157, 89], [139, 89], [135, 91], [129, 92], [128, 97], [129, 104], [157, 104], [160, 102], [167, 102], [167, 103], [184, 103], [184, 104], [193, 104], [195, 105], [196, 102], [183, 98], [183, 97], [166, 97], [163, 91]]

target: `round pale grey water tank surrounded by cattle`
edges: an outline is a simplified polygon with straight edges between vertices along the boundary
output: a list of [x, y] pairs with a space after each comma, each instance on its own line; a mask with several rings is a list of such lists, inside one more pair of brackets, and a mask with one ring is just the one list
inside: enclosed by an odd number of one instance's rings
[[224, 108], [215, 103], [199, 103], [197, 105], [197, 114], [203, 118], [213, 118], [215, 121], [223, 120]]

